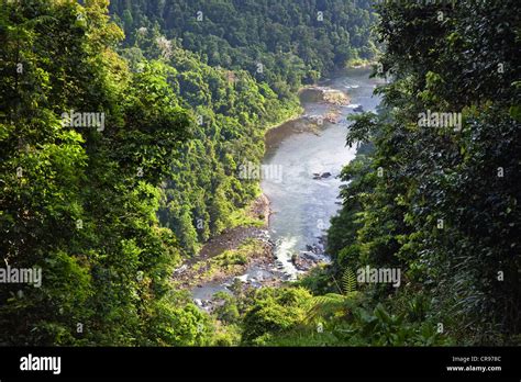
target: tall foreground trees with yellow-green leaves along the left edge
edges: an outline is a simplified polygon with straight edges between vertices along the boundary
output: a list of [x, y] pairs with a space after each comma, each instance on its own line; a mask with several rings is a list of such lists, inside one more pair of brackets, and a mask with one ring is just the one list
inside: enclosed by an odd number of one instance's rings
[[[43, 279], [2, 284], [4, 345], [210, 336], [197, 329], [204, 315], [170, 296], [179, 246], [156, 217], [157, 187], [191, 119], [168, 68], [131, 72], [114, 52], [123, 35], [107, 5], [1, 1], [0, 254], [10, 267], [40, 267]], [[104, 113], [104, 128], [63, 124], [70, 110]]]

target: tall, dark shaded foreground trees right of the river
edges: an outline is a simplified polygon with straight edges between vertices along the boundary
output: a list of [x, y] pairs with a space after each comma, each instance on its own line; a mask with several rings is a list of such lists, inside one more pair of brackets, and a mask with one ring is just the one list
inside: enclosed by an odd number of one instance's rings
[[[378, 90], [379, 113], [356, 116], [350, 128], [348, 145], [372, 142], [373, 149], [362, 146], [343, 170], [350, 183], [329, 231], [329, 272], [399, 267], [406, 282], [397, 293], [366, 291], [374, 301], [391, 296], [397, 317], [443, 322], [465, 345], [511, 344], [521, 306], [519, 3], [447, 7], [379, 7], [380, 63], [392, 82]], [[440, 11], [451, 16], [440, 21]], [[461, 132], [419, 125], [428, 110], [462, 113]]]

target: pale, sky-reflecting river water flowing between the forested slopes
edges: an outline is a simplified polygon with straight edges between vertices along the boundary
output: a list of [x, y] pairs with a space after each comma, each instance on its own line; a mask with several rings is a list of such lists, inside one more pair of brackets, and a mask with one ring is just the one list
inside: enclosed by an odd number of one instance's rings
[[[322, 247], [320, 237], [330, 226], [330, 218], [340, 209], [339, 192], [341, 180], [337, 178], [342, 167], [355, 156], [355, 147], [345, 146], [348, 122], [346, 116], [355, 113], [361, 105], [364, 111], [375, 110], [379, 99], [373, 96], [376, 86], [381, 81], [369, 79], [370, 69], [359, 68], [345, 70], [332, 79], [322, 81], [322, 87], [341, 90], [348, 94], [351, 104], [334, 106], [318, 102], [301, 94], [304, 115], [324, 115], [331, 110], [340, 113], [337, 123], [323, 121], [319, 128], [310, 131], [311, 122], [307, 117], [289, 121], [266, 135], [266, 155], [263, 161], [267, 173], [262, 180], [263, 192], [270, 201], [273, 214], [269, 218], [269, 236], [275, 243], [277, 257], [273, 270], [286, 273], [288, 279], [296, 279], [298, 271], [291, 261], [293, 254], [314, 246], [319, 252]], [[313, 123], [317, 126], [317, 123]], [[330, 172], [329, 177], [317, 178]], [[328, 257], [324, 256], [324, 260]], [[262, 280], [269, 278], [269, 270], [254, 267], [241, 277]], [[271, 273], [271, 277], [273, 274]], [[225, 284], [230, 284], [226, 281]], [[218, 291], [226, 291], [223, 284], [209, 283], [197, 288], [192, 295], [198, 300], [210, 300]]]

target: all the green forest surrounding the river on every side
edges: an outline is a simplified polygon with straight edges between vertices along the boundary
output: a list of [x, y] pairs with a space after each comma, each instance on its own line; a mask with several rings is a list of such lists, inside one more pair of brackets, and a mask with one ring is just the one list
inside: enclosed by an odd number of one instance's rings
[[[0, 0], [0, 345], [520, 345], [521, 7], [372, 3]], [[201, 310], [173, 281], [258, 224], [241, 166], [368, 64], [331, 263]]]

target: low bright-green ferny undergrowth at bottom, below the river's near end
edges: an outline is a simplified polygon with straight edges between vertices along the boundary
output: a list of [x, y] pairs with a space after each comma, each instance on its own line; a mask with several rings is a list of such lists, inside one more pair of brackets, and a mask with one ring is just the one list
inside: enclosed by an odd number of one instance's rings
[[[291, 290], [291, 289], [290, 289]], [[329, 293], [325, 295], [297, 300], [300, 306], [292, 310], [307, 310], [300, 323], [284, 319], [281, 307], [271, 301], [263, 301], [263, 308], [254, 305], [252, 315], [246, 315], [250, 325], [258, 323], [258, 337], [252, 342], [263, 346], [442, 346], [453, 340], [436, 332], [436, 323], [428, 321], [408, 321], [406, 314], [390, 314], [383, 305], [367, 306], [364, 294], [348, 295]], [[255, 302], [258, 304], [258, 301]], [[310, 304], [312, 307], [309, 308]], [[252, 323], [252, 319], [254, 322]], [[245, 321], [246, 323], [246, 321]], [[266, 330], [266, 328], [268, 328]], [[251, 335], [245, 332], [244, 335]]]

